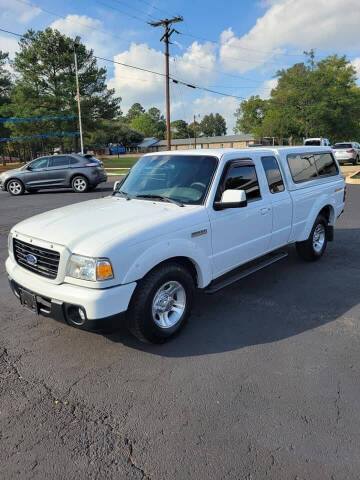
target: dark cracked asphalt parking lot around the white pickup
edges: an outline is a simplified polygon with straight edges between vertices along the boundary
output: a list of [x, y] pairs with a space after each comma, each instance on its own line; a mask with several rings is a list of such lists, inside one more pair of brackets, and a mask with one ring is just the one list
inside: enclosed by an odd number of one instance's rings
[[8, 288], [15, 223], [110, 192], [0, 193], [1, 477], [358, 479], [360, 186], [320, 262], [291, 249], [198, 294], [162, 346], [36, 317]]

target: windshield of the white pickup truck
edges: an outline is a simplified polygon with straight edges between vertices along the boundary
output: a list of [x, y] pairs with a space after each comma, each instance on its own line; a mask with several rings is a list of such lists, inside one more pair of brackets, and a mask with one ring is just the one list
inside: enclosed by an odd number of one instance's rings
[[206, 155], [142, 157], [119, 184], [117, 195], [158, 195], [185, 204], [200, 205], [216, 166], [217, 159]]

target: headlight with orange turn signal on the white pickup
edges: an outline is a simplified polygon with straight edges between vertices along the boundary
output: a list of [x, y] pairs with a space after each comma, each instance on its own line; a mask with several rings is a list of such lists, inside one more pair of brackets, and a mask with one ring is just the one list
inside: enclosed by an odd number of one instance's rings
[[67, 275], [80, 280], [110, 280], [114, 278], [111, 262], [108, 258], [91, 258], [72, 255], [67, 267]]

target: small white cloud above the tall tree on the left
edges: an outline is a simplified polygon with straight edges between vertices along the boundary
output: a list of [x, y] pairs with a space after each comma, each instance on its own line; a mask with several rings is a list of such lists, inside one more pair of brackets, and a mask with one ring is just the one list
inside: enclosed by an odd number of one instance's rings
[[94, 50], [95, 55], [108, 55], [113, 50], [109, 36], [105, 31], [100, 31], [103, 23], [98, 19], [87, 15], [67, 15], [55, 20], [50, 27], [72, 38], [79, 35], [87, 48]]

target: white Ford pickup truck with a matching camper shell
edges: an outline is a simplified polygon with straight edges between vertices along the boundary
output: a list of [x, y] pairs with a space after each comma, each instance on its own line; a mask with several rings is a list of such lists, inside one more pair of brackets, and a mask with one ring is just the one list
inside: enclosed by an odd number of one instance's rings
[[344, 197], [329, 147], [152, 153], [113, 195], [15, 225], [6, 269], [36, 313], [80, 328], [125, 317], [140, 340], [161, 343], [186, 322], [196, 288], [216, 292], [289, 244], [319, 259]]

